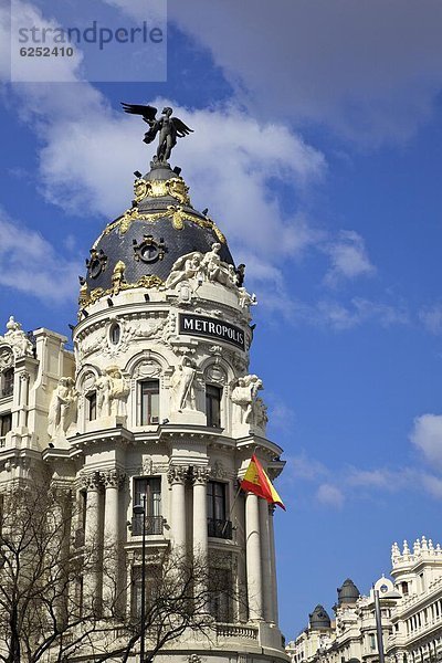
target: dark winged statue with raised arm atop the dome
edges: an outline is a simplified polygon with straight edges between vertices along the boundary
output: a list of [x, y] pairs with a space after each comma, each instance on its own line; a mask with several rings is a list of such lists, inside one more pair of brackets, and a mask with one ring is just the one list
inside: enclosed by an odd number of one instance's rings
[[159, 133], [159, 141], [157, 149], [157, 161], [168, 161], [170, 152], [177, 145], [177, 137], [183, 138], [189, 134], [193, 133], [185, 123], [178, 117], [172, 117], [172, 108], [166, 106], [162, 108], [161, 116], [157, 119], [157, 108], [154, 106], [141, 106], [139, 104], [125, 104], [122, 102], [122, 106], [126, 113], [131, 115], [141, 115], [143, 119], [149, 125], [149, 130], [146, 131], [144, 141], [149, 144], [155, 140], [156, 135]]

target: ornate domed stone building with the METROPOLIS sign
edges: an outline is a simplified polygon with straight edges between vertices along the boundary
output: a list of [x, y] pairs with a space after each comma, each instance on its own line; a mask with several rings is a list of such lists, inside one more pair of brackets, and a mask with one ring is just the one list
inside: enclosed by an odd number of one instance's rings
[[137, 177], [133, 207], [104, 229], [86, 265], [74, 354], [64, 336], [27, 335], [12, 317], [0, 336], [1, 490], [44, 467], [71, 491], [83, 509], [74, 539], [119, 550], [128, 607], [139, 601], [133, 507], [146, 495], [148, 554], [201, 552], [246, 598], [219, 597], [210, 642], [177, 641], [161, 657], [286, 660], [273, 509], [252, 494], [235, 498], [252, 452], [272, 478], [283, 467], [265, 434], [263, 383], [249, 371], [256, 302], [243, 266], [166, 164]]

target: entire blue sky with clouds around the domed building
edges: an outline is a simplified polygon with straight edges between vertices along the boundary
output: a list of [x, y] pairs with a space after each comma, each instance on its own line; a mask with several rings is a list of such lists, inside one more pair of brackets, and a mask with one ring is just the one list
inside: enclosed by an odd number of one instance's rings
[[[56, 7], [15, 3], [41, 21], [62, 20]], [[173, 165], [260, 302], [252, 371], [287, 460], [292, 639], [346, 577], [367, 592], [387, 573], [394, 540], [442, 538], [442, 6], [169, 0], [167, 13], [164, 83], [91, 83], [67, 63], [69, 83], [11, 84], [0, 9], [0, 323], [69, 332], [91, 243], [150, 157], [119, 102], [170, 103], [196, 129]]]

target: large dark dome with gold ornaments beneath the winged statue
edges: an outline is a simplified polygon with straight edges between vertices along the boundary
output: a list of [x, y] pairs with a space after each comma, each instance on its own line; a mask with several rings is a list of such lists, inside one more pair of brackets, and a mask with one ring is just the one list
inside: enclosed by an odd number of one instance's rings
[[191, 206], [183, 179], [168, 164], [152, 164], [135, 181], [133, 208], [109, 223], [91, 250], [87, 288], [98, 296], [109, 292], [117, 263], [129, 286], [161, 284], [178, 257], [207, 253], [214, 242], [221, 244], [221, 260], [234, 264], [217, 224]]

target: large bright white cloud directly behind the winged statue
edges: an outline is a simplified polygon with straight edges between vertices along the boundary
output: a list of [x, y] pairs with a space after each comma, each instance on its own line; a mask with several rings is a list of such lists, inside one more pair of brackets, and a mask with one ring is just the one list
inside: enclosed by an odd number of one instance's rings
[[[135, 13], [126, 0], [112, 4]], [[25, 6], [27, 11], [31, 11]], [[138, 8], [138, 9], [137, 9]], [[261, 7], [261, 11], [264, 8]], [[260, 19], [261, 20], [261, 19]], [[146, 170], [154, 148], [141, 141], [143, 123], [110, 108], [92, 85], [17, 85], [23, 122], [36, 131], [40, 187], [46, 200], [81, 214], [110, 220], [131, 200], [131, 172]], [[178, 116], [197, 131], [177, 150], [193, 204], [210, 206], [210, 215], [227, 233], [238, 262], [248, 265], [248, 284], [267, 311], [291, 320], [350, 329], [365, 322], [403, 324], [397, 306], [352, 298], [349, 304], [323, 299], [295, 302], [282, 271], [282, 260], [319, 251], [330, 259], [328, 285], [375, 273], [364, 239], [354, 231], [336, 238], [314, 228], [302, 211], [282, 210], [275, 181], [293, 193], [317, 181], [326, 170], [324, 156], [274, 117], [259, 122], [238, 106], [189, 110], [170, 99]], [[285, 263], [287, 264], [287, 263]]]

